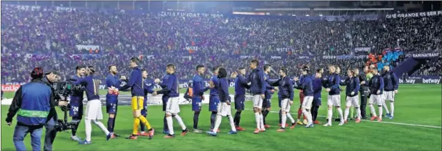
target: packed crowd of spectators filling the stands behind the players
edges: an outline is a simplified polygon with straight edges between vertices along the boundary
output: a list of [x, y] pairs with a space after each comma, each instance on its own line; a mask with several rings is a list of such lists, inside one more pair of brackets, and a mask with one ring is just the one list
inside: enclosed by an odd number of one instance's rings
[[[95, 65], [102, 73], [101, 79], [111, 64], [119, 67], [120, 74], [129, 75], [127, 61], [139, 55], [151, 77], [161, 77], [167, 63], [177, 65], [180, 79], [191, 79], [197, 64], [224, 65], [233, 71], [250, 59], [240, 56], [253, 56], [275, 69], [286, 66], [295, 75], [300, 74], [302, 65], [316, 69], [334, 64], [345, 71], [366, 65], [367, 59], [322, 56], [353, 54], [354, 47], [370, 47], [374, 56], [395, 47], [411, 54], [440, 50], [442, 43], [440, 15], [329, 22], [268, 16], [173, 17], [118, 11], [21, 10], [2, 5], [1, 18], [3, 83], [27, 81], [28, 71], [35, 66], [58, 70], [64, 75], [62, 79], [72, 76], [79, 64]], [[76, 45], [99, 45], [100, 49], [77, 49]], [[435, 63], [418, 73], [440, 75], [441, 58], [432, 61]], [[398, 61], [389, 62], [398, 65]], [[276, 72], [271, 76], [276, 77]]]

